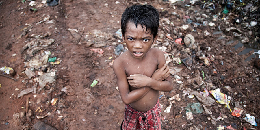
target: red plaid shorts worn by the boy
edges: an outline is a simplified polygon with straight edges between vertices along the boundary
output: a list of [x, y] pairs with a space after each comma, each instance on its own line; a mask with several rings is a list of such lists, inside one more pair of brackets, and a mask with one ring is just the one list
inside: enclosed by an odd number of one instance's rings
[[159, 100], [149, 111], [140, 112], [130, 105], [125, 105], [124, 130], [161, 130], [161, 106]]

